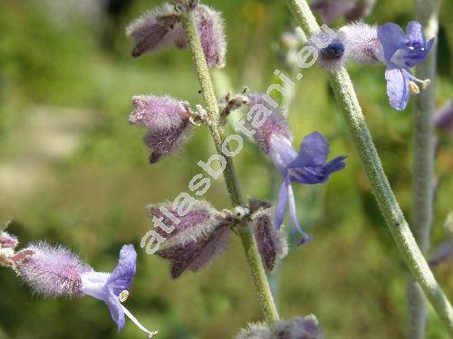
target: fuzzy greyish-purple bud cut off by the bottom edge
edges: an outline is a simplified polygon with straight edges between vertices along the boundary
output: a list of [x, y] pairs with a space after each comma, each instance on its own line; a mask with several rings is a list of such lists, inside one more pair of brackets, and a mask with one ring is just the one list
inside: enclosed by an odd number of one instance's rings
[[249, 324], [236, 339], [323, 339], [324, 334], [316, 316], [298, 316], [289, 321], [281, 320], [275, 325]]

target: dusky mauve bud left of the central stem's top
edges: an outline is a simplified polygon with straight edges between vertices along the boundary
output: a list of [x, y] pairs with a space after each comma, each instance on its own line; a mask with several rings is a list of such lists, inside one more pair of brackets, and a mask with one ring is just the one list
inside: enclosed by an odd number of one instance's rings
[[126, 34], [136, 42], [133, 57], [144, 52], [155, 52], [171, 44], [187, 47], [186, 34], [175, 12], [175, 6], [165, 4], [143, 14], [126, 29]]

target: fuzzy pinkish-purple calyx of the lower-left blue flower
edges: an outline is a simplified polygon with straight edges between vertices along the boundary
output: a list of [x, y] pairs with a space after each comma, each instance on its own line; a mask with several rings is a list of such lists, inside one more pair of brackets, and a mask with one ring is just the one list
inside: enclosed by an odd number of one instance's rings
[[[44, 297], [80, 296], [82, 274], [92, 272], [79, 257], [63, 247], [36, 242], [17, 253], [28, 252], [25, 258], [14, 259], [18, 272], [35, 293]], [[30, 255], [33, 253], [33, 255]]]

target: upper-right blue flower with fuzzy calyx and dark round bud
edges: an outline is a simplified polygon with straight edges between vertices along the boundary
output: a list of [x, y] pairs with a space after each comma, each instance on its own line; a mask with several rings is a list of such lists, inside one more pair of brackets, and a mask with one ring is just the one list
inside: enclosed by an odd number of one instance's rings
[[429, 80], [417, 79], [410, 68], [425, 60], [433, 44], [434, 38], [426, 42], [421, 24], [416, 21], [408, 24], [406, 33], [397, 24], [376, 27], [360, 23], [342, 27], [333, 42], [319, 47], [318, 54], [328, 71], [338, 71], [348, 59], [362, 64], [385, 64], [390, 106], [403, 110], [410, 94], [419, 93], [419, 85], [422, 89], [429, 86]]

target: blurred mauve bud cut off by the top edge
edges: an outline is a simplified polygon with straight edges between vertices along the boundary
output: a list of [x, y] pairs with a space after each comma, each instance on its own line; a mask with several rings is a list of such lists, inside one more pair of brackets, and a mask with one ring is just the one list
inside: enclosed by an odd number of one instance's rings
[[314, 0], [311, 7], [321, 15], [324, 24], [332, 24], [344, 16], [349, 22], [370, 15], [376, 0]]

